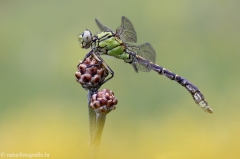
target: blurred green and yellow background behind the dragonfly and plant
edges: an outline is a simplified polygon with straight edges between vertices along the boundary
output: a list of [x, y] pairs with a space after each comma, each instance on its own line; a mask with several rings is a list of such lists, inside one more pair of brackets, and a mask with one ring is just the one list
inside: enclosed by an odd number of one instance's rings
[[75, 81], [77, 35], [115, 30], [121, 16], [149, 42], [156, 63], [203, 92], [212, 115], [177, 83], [136, 74], [104, 57], [117, 109], [107, 116], [99, 159], [240, 158], [240, 1], [0, 1], [0, 153], [88, 156], [87, 92]]

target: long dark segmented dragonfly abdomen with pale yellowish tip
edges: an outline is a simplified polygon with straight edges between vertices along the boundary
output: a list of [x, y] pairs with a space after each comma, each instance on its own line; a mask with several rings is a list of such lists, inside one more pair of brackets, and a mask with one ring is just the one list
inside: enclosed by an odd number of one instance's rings
[[156, 64], [151, 63], [151, 65], [152, 65], [152, 69], [157, 73], [159, 73], [160, 75], [163, 75], [171, 80], [174, 80], [178, 82], [180, 85], [182, 85], [183, 87], [185, 87], [188, 90], [188, 92], [192, 95], [195, 103], [198, 104], [202, 109], [204, 109], [208, 113], [213, 113], [212, 108], [208, 105], [201, 91], [192, 83], [190, 83], [187, 79], [181, 76], [178, 76], [177, 74], [161, 66], [158, 66]]

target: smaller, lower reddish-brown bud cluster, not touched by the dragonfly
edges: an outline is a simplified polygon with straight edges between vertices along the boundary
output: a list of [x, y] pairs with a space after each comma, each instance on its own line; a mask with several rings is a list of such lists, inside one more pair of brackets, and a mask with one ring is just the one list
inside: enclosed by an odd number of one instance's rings
[[118, 103], [117, 98], [111, 90], [103, 89], [98, 93], [93, 94], [90, 102], [90, 107], [97, 113], [109, 113], [116, 109]]

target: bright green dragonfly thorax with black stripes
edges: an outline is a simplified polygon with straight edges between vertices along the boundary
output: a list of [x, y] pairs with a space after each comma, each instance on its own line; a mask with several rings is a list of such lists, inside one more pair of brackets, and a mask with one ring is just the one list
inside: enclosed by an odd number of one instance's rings
[[129, 54], [125, 52], [123, 42], [111, 32], [101, 32], [96, 35], [97, 41], [95, 47], [98, 47], [100, 54], [107, 54], [119, 59], [129, 59]]

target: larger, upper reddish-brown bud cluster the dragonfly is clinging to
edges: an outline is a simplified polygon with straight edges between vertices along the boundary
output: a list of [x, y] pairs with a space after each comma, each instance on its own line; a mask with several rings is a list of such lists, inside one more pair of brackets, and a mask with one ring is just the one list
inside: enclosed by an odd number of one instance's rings
[[108, 71], [94, 56], [86, 58], [84, 62], [80, 61], [77, 68], [76, 81], [87, 90], [98, 89], [108, 76]]

